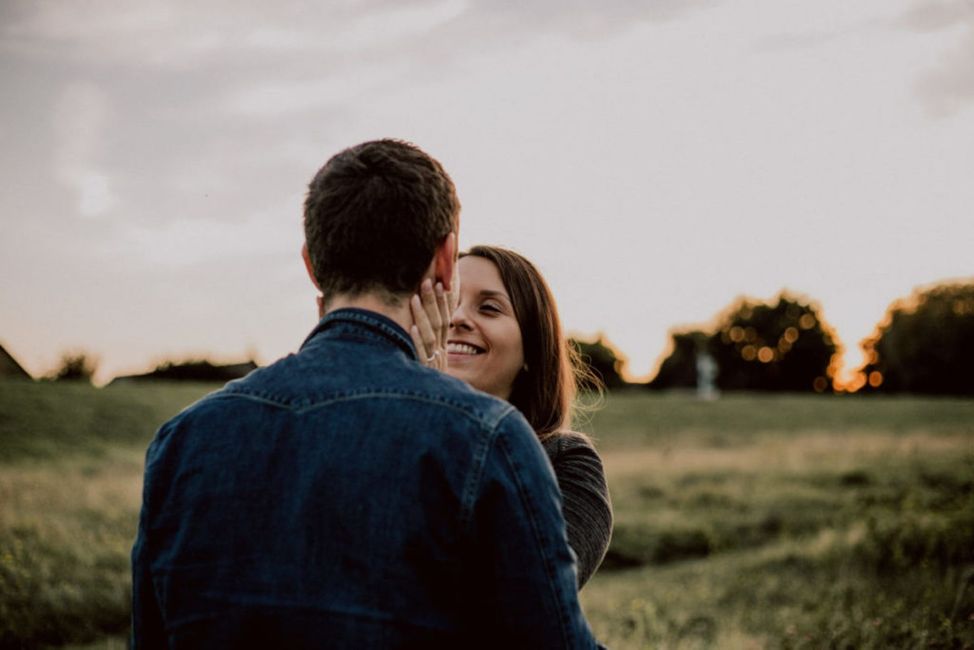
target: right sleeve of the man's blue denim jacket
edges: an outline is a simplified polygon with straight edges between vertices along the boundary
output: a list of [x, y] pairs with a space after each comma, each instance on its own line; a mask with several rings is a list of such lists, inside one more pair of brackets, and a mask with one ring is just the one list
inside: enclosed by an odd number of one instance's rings
[[578, 602], [561, 495], [520, 413], [498, 425], [472, 510], [477, 589], [495, 647], [594, 648]]

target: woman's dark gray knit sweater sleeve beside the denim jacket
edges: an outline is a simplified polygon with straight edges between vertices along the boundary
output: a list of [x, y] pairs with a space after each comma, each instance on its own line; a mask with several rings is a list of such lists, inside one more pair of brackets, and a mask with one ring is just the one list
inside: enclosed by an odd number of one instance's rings
[[612, 535], [612, 504], [602, 459], [585, 436], [561, 431], [542, 441], [561, 489], [568, 545], [578, 557], [578, 588], [599, 568]]

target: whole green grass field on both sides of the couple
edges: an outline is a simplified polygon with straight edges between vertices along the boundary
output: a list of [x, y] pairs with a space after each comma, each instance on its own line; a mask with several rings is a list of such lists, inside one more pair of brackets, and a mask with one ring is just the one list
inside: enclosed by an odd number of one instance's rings
[[[0, 648], [122, 648], [142, 458], [212, 386], [0, 383]], [[620, 393], [611, 648], [974, 648], [974, 401]]]

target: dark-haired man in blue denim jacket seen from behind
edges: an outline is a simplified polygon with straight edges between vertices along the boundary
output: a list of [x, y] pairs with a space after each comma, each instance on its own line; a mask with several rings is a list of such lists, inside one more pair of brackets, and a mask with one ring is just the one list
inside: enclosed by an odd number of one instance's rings
[[559, 493], [509, 404], [424, 367], [409, 298], [455, 291], [460, 206], [382, 140], [311, 181], [324, 318], [159, 430], [132, 551], [136, 648], [592, 647]]

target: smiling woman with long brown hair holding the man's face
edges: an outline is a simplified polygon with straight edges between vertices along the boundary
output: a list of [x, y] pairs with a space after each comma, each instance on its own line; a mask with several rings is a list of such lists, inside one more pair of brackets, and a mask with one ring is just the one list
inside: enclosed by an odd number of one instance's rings
[[598, 453], [585, 435], [566, 428], [576, 392], [574, 350], [531, 262], [504, 248], [475, 246], [459, 265], [455, 309], [441, 286], [424, 286], [413, 297], [413, 343], [428, 365], [508, 400], [534, 428], [561, 489], [581, 589], [605, 556], [612, 507]]

